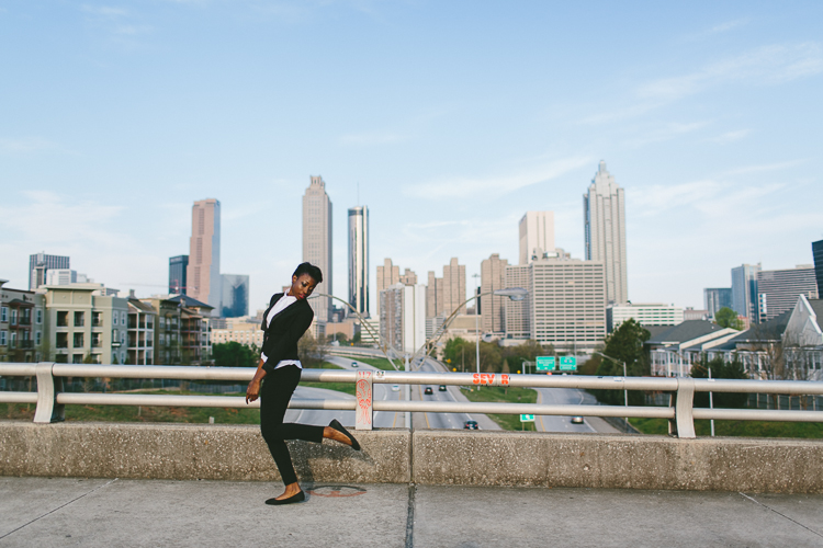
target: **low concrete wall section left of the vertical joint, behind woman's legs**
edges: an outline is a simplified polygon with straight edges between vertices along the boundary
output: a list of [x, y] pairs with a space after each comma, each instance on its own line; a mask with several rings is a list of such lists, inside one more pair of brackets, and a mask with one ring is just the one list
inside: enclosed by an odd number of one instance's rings
[[[362, 452], [290, 443], [304, 481], [405, 483], [405, 430], [358, 432]], [[88, 478], [277, 480], [259, 426], [0, 421], [0, 475]]]

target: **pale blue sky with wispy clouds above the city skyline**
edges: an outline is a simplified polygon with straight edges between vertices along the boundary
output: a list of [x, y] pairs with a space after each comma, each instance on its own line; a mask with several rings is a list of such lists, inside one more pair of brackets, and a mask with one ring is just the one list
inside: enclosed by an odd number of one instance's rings
[[[701, 308], [734, 265], [812, 263], [823, 237], [823, 8], [702, 7], [338, 3], [289, 19], [243, 2], [10, 2], [0, 276], [26, 287], [44, 250], [158, 293], [191, 203], [214, 196], [222, 267], [248, 273], [262, 308], [302, 259], [309, 173], [338, 207], [368, 203], [371, 254], [421, 279], [452, 256], [467, 277], [492, 253], [516, 262], [531, 209], [554, 212], [556, 246], [583, 258], [579, 196], [606, 160], [627, 190], [632, 300]], [[303, 83], [317, 73], [335, 85]]]

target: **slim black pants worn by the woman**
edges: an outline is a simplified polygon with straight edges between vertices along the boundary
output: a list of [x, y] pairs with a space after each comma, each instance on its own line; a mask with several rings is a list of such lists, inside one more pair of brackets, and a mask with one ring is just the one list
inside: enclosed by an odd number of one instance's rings
[[300, 367], [286, 365], [267, 374], [260, 387], [260, 432], [286, 486], [297, 481], [297, 475], [294, 473], [285, 439], [323, 442], [324, 426], [283, 423], [289, 400], [300, 383]]

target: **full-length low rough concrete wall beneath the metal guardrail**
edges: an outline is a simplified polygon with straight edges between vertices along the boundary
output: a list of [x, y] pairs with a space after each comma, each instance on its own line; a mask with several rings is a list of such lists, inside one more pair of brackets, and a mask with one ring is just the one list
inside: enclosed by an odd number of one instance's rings
[[[823, 493], [823, 442], [381, 430], [290, 447], [303, 481]], [[257, 426], [0, 421], [0, 475], [277, 480]]]

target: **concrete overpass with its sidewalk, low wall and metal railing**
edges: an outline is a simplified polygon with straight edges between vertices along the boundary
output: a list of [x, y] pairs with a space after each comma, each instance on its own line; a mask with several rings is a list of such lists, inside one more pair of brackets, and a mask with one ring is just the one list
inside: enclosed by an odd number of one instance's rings
[[[819, 441], [697, 438], [683, 435], [686, 429], [679, 436], [392, 429], [380, 426], [381, 413], [572, 412], [555, 404], [486, 408], [489, 404], [458, 401], [379, 404], [375, 399], [361, 408], [362, 397], [307, 399], [295, 407], [354, 414], [363, 450], [293, 443], [297, 472], [311, 489], [309, 504], [272, 513], [261, 502], [280, 492], [279, 477], [256, 426], [52, 422], [59, 406], [72, 401], [123, 402], [129, 400], [122, 399], [125, 396], [146, 396], [59, 391], [56, 379], [77, 374], [72, 367], [97, 367], [95, 374], [103, 376], [115, 366], [0, 364], [0, 374], [8, 375], [10, 367], [18, 367], [16, 373], [36, 369], [38, 393], [0, 393], [0, 400], [32, 401], [35, 396], [33, 402], [46, 420], [0, 421], [0, 546], [202, 546], [245, 539], [274, 546], [500, 546], [512, 540], [522, 546], [823, 546]], [[146, 373], [116, 367], [114, 373], [121, 375]], [[237, 369], [187, 369], [188, 375], [211, 378], [246, 375]], [[153, 372], [181, 374], [177, 368]], [[376, 373], [308, 373], [316, 380], [360, 383], [369, 377], [375, 395], [381, 385], [395, 381], [482, 381], [430, 372], [390, 372], [381, 378]], [[512, 384], [599, 384], [621, 390], [647, 380], [511, 377]], [[666, 383], [675, 401], [651, 412], [669, 418], [675, 426], [685, 424], [684, 414], [690, 419], [698, 412], [762, 413], [690, 410], [681, 396], [702, 386], [686, 379], [686, 392], [678, 395], [679, 379], [652, 380]], [[731, 383], [723, 390], [749, 389], [746, 383], [755, 381]], [[821, 389], [809, 383], [802, 388], [756, 384], [758, 390], [796, 393]], [[212, 397], [162, 398], [232, 404], [226, 397], [217, 397], [219, 402]], [[575, 409], [589, 416], [647, 412], [587, 407]], [[820, 420], [819, 412], [769, 412], [787, 420]], [[372, 430], [363, 430], [363, 416], [371, 418]], [[270, 524], [275, 536], [260, 524]]]

